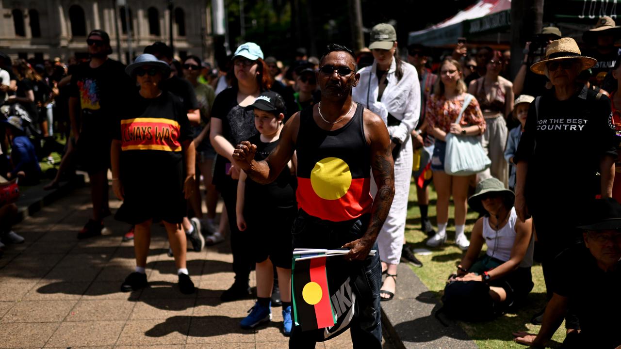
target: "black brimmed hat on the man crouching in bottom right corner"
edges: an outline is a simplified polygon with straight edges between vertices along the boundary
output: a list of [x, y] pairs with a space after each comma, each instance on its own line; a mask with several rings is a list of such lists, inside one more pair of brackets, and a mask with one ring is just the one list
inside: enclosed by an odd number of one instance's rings
[[586, 206], [578, 229], [621, 230], [621, 204], [612, 197], [591, 202]]

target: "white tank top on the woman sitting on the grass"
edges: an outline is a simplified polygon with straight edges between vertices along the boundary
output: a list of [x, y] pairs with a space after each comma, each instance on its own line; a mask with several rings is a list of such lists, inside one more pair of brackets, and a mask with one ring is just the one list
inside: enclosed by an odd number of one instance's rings
[[[487, 255], [501, 261], [508, 261], [511, 258], [511, 250], [515, 242], [515, 222], [517, 214], [515, 207], [511, 208], [509, 221], [498, 231], [489, 225], [489, 217], [483, 217], [483, 238], [487, 244]], [[535, 235], [531, 235], [528, 249], [524, 255], [520, 268], [530, 268], [533, 265], [533, 248]]]

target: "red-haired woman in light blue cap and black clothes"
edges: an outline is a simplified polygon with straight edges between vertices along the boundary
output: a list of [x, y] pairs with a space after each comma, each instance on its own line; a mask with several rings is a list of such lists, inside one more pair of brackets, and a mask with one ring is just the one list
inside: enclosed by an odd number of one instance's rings
[[250, 292], [248, 277], [253, 265], [249, 243], [240, 234], [235, 224], [235, 201], [240, 170], [232, 166], [233, 145], [258, 134], [255, 129], [255, 114], [245, 107], [253, 104], [261, 91], [271, 87], [271, 76], [263, 61], [263, 52], [256, 43], [247, 42], [240, 45], [232, 60], [234, 66], [232, 87], [225, 89], [215, 97], [209, 132], [211, 144], [218, 153], [215, 161], [214, 184], [222, 193], [229, 217], [233, 271], [235, 272], [235, 283], [222, 294], [223, 301], [248, 297]]

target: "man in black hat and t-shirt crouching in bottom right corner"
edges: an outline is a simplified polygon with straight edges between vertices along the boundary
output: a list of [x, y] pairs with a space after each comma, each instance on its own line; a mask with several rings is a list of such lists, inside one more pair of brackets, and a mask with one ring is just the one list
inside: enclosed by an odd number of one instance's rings
[[[537, 336], [514, 333], [515, 341], [543, 348], [563, 321], [571, 303], [581, 332], [573, 332], [563, 348], [615, 349], [621, 346], [621, 205], [599, 199], [589, 205], [582, 229], [584, 245], [556, 258], [554, 295]], [[586, 248], [585, 248], [586, 246]]]

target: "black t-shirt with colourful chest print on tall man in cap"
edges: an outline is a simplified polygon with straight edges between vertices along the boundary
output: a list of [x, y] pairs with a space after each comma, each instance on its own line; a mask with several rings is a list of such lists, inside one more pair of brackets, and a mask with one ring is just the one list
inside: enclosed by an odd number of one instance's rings
[[70, 96], [79, 98], [82, 132], [91, 137], [109, 137], [134, 86], [135, 82], [125, 74], [125, 65], [118, 61], [108, 59], [97, 68], [91, 68], [89, 62], [76, 66]]

